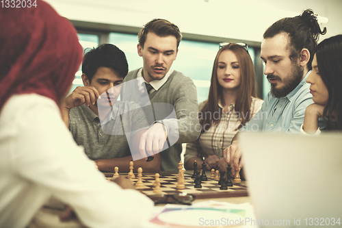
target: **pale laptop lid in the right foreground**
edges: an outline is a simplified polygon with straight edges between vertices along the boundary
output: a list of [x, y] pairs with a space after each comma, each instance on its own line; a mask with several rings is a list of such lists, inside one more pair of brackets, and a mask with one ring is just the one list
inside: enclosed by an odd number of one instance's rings
[[239, 141], [259, 227], [342, 225], [341, 133], [242, 132]]

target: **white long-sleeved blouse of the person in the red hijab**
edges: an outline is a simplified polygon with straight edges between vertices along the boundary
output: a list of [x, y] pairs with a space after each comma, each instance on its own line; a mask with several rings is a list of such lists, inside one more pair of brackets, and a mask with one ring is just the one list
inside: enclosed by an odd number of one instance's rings
[[25, 227], [51, 196], [88, 227], [137, 227], [153, 211], [96, 170], [56, 103], [38, 94], [14, 95], [0, 112], [0, 196], [0, 227]]

